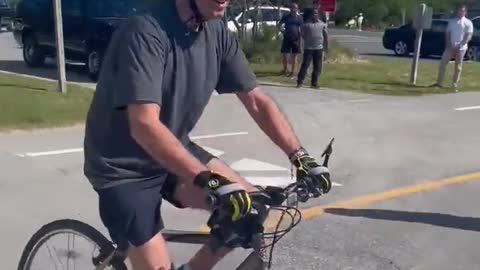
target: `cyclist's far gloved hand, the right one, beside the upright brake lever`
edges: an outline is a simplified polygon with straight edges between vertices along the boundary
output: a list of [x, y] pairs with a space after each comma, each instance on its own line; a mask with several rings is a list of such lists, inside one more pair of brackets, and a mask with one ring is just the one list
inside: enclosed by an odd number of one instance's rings
[[296, 167], [297, 181], [304, 181], [308, 191], [314, 197], [328, 193], [332, 188], [330, 171], [320, 165], [315, 158], [301, 148], [290, 156], [290, 161]]

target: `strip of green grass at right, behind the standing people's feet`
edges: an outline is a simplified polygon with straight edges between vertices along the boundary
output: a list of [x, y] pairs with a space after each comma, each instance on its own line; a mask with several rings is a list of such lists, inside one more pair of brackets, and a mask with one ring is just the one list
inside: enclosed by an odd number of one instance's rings
[[[299, 63], [300, 64], [300, 63]], [[421, 61], [418, 69], [417, 86], [410, 85], [411, 60], [375, 59], [365, 61], [334, 62], [324, 65], [320, 76], [320, 87], [351, 90], [382, 95], [422, 95], [452, 92], [453, 64], [447, 69], [444, 85], [446, 88], [429, 87], [436, 82], [439, 62]], [[291, 86], [295, 80], [280, 75], [282, 67], [278, 64], [252, 64], [260, 81], [279, 82]], [[480, 91], [480, 63], [464, 64], [460, 91]], [[304, 85], [310, 84], [310, 77]]]

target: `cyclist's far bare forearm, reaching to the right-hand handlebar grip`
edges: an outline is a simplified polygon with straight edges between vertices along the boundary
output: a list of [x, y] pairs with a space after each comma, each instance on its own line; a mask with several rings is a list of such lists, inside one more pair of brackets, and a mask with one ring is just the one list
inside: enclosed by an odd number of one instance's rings
[[285, 154], [289, 155], [300, 148], [300, 142], [287, 118], [272, 98], [258, 88], [238, 93], [237, 96], [257, 125]]

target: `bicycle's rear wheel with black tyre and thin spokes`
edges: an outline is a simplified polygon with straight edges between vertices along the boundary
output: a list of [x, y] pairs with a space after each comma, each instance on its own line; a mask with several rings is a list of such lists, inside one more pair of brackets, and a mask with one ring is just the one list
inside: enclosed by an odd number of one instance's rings
[[127, 270], [124, 257], [117, 255], [111, 242], [95, 228], [77, 220], [62, 219], [48, 223], [30, 238], [18, 270]]

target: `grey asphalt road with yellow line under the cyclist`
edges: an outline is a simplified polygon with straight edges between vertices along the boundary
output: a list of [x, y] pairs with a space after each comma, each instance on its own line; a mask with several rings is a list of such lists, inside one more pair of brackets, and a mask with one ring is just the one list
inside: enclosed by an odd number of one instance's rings
[[[479, 106], [480, 94], [399, 98], [264, 89], [314, 156], [335, 137], [331, 170], [339, 184], [302, 206], [309, 209], [305, 220], [276, 245], [273, 269], [478, 268], [480, 174], [455, 176], [479, 171], [479, 110], [465, 107]], [[288, 161], [239, 105], [232, 96], [213, 96], [192, 136], [249, 181], [284, 183]], [[0, 135], [2, 269], [16, 269], [27, 240], [52, 220], [74, 218], [105, 233], [82, 175], [82, 138], [81, 126]], [[162, 212], [174, 229], [195, 230], [207, 218], [168, 204]], [[67, 238], [61, 241], [57, 251]], [[176, 262], [198, 248], [170, 247]], [[236, 251], [216, 269], [232, 269], [245, 255]]]

